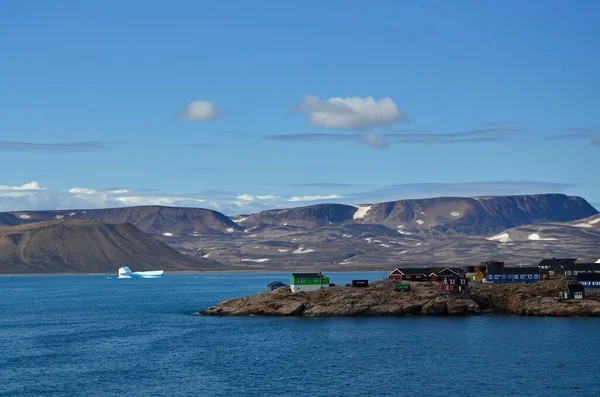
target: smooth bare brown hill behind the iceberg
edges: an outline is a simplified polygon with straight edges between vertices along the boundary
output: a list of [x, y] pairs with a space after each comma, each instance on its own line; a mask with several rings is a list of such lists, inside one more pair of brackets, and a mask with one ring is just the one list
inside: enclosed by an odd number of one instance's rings
[[125, 223], [54, 220], [0, 227], [0, 273], [115, 273], [223, 269], [191, 258]]

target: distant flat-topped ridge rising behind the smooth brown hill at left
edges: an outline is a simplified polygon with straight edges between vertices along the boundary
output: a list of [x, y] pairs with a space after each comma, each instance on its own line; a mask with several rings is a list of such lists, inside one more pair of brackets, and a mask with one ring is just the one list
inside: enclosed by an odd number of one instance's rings
[[153, 236], [183, 237], [240, 230], [220, 212], [203, 208], [139, 206], [97, 210], [20, 211], [0, 213], [0, 225], [58, 219], [90, 219], [103, 223], [131, 223]]

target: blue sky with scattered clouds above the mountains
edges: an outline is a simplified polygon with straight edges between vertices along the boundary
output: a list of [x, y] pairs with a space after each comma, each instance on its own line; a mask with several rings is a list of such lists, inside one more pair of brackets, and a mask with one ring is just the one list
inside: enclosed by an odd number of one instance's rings
[[4, 4], [0, 210], [597, 204], [598, 15], [595, 1]]

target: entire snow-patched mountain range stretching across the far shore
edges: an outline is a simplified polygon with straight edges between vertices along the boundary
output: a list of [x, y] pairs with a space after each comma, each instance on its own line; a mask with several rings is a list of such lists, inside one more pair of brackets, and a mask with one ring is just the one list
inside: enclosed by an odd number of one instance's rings
[[[32, 261], [27, 255], [15, 257], [19, 248], [13, 247], [10, 261], [0, 255], [3, 273], [8, 272], [5, 263], [12, 263], [11, 272], [43, 271], [48, 266], [44, 261], [53, 264], [47, 271], [67, 272], [92, 268], [101, 272], [125, 262], [140, 266], [139, 270], [160, 263], [159, 268], [171, 271], [381, 270], [408, 263], [472, 264], [486, 259], [537, 263], [548, 256], [600, 257], [598, 211], [583, 198], [562, 194], [317, 204], [231, 218], [207, 209], [161, 206], [17, 211], [0, 213], [1, 225], [0, 247], [8, 244], [9, 235], [43, 231], [43, 239], [31, 238], [27, 246], [44, 247], [40, 250], [47, 255]], [[85, 233], [65, 234], [59, 225], [77, 226]], [[102, 227], [119, 233], [124, 232], [115, 228], [126, 228], [136, 241], [145, 243], [135, 245], [135, 254], [106, 259], [103, 250], [94, 251], [96, 245], [129, 251], [121, 247], [127, 239], [107, 239], [110, 244], [98, 240], [104, 235], [98, 231]], [[156, 243], [147, 246], [141, 236]], [[160, 249], [157, 240], [165, 243]], [[24, 244], [22, 239], [11, 241], [16, 247]], [[59, 251], [69, 247], [69, 255], [50, 255], [50, 241], [61, 241]], [[77, 256], [80, 250], [96, 254]], [[85, 265], [77, 267], [77, 261]]]

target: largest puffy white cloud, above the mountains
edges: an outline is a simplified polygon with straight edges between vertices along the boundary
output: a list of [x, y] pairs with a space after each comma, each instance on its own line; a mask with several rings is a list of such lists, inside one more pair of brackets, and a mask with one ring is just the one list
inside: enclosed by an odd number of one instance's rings
[[290, 107], [290, 111], [307, 113], [310, 124], [324, 128], [369, 130], [408, 122], [406, 113], [398, 109], [391, 98], [378, 101], [372, 97], [321, 100], [314, 95], [306, 95], [299, 104]]

